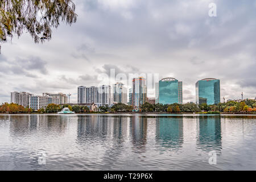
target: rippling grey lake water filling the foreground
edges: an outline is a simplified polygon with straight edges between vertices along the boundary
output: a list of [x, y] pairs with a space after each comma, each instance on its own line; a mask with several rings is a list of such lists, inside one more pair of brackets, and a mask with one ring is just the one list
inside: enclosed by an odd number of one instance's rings
[[0, 115], [0, 170], [255, 170], [255, 140], [256, 115]]

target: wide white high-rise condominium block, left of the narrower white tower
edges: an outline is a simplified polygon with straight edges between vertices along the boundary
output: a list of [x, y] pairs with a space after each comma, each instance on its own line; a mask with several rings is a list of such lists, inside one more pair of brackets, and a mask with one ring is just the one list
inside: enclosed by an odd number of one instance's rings
[[97, 106], [111, 105], [111, 87], [109, 85], [96, 86], [79, 86], [77, 88], [78, 104], [97, 104]]

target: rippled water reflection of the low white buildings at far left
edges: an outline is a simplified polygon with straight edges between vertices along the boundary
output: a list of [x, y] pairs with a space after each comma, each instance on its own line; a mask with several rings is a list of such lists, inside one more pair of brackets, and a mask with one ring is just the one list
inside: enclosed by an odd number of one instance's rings
[[32, 134], [31, 131], [54, 131], [64, 133], [69, 117], [61, 115], [10, 115], [10, 133], [13, 135]]

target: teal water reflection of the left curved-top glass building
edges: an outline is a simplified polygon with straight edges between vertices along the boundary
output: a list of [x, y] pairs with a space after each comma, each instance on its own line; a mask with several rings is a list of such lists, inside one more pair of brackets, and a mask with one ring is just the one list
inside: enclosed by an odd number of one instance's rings
[[156, 143], [179, 149], [183, 144], [183, 117], [157, 117]]

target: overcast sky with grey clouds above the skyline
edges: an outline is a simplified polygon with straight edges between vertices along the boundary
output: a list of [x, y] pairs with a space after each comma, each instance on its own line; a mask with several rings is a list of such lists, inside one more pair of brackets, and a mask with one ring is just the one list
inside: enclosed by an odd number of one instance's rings
[[[98, 75], [155, 73], [183, 81], [183, 100], [195, 84], [220, 79], [222, 97], [256, 97], [256, 1], [76, 0], [77, 22], [61, 24], [52, 40], [28, 34], [2, 44], [0, 103], [10, 92], [71, 93], [97, 86]], [[217, 16], [210, 17], [209, 3]], [[154, 81], [153, 81], [154, 82]], [[154, 89], [148, 89], [154, 96]]]

